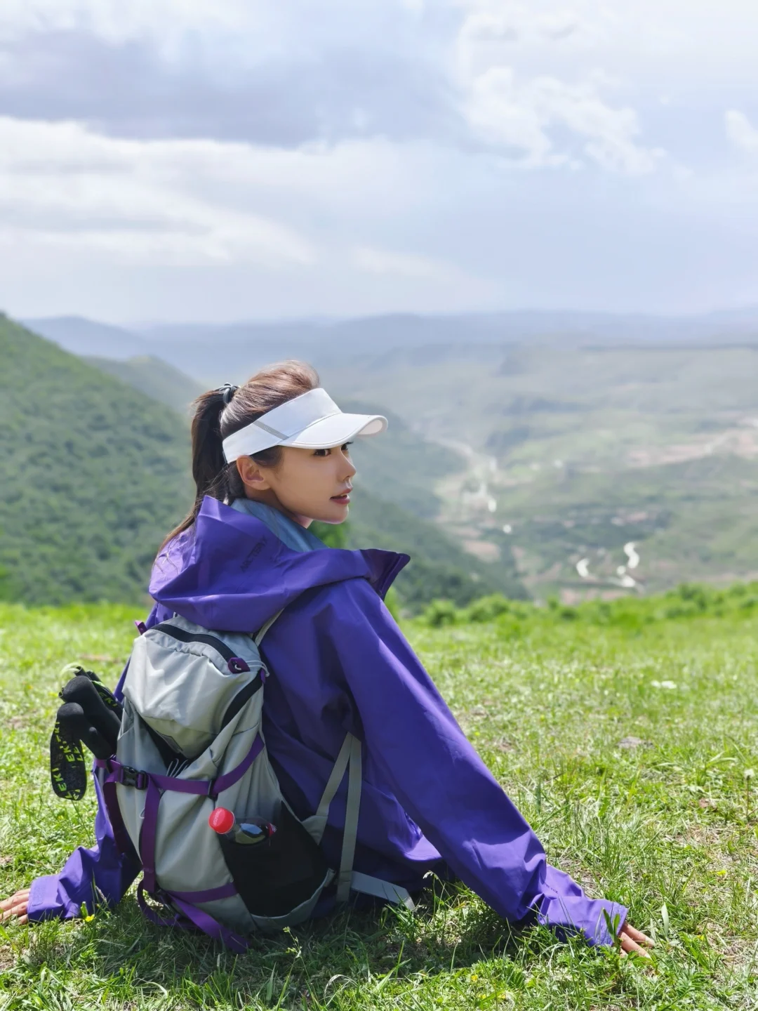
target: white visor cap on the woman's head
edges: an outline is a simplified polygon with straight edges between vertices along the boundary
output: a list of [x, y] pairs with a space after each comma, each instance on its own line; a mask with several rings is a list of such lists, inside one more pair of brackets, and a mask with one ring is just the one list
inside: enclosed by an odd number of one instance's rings
[[344, 415], [325, 389], [317, 387], [287, 400], [223, 440], [226, 463], [255, 456], [272, 446], [330, 449], [356, 436], [378, 436], [387, 428], [381, 415]]

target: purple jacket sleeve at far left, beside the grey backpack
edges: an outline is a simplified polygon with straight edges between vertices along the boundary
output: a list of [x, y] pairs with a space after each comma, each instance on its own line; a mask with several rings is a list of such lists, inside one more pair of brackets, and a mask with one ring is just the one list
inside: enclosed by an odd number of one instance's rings
[[113, 831], [97, 779], [96, 844], [92, 849], [79, 846], [58, 875], [45, 875], [31, 883], [29, 920], [70, 919], [81, 916], [82, 907], [89, 913], [95, 905], [115, 905], [140, 869], [132, 854], [123, 855], [113, 839]]

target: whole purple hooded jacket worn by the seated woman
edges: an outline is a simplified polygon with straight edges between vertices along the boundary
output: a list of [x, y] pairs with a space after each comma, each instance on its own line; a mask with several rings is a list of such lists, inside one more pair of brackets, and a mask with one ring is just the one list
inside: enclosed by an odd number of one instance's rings
[[[194, 529], [154, 567], [158, 603], [148, 625], [177, 613], [209, 629], [252, 632], [286, 607], [263, 646], [274, 675], [263, 729], [295, 813], [313, 813], [350, 731], [363, 741], [356, 870], [409, 891], [430, 870], [452, 874], [511, 922], [536, 916], [559, 933], [582, 930], [591, 944], [610, 943], [604, 913], [621, 926], [626, 908], [589, 899], [547, 862], [382, 603], [407, 556], [324, 548], [272, 514], [206, 498]], [[322, 843], [333, 866], [345, 791]], [[32, 883], [30, 920], [78, 916], [92, 907], [93, 885], [116, 903], [138, 874], [134, 855], [114, 844], [99, 788], [98, 800], [97, 845]]]

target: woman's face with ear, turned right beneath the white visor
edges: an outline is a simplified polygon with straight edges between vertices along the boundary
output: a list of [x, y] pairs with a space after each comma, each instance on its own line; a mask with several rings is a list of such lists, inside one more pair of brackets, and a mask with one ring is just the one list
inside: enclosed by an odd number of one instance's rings
[[252, 457], [240, 457], [236, 467], [249, 498], [281, 510], [303, 527], [312, 520], [344, 523], [356, 468], [350, 443], [334, 449], [282, 447], [278, 467], [261, 467]]

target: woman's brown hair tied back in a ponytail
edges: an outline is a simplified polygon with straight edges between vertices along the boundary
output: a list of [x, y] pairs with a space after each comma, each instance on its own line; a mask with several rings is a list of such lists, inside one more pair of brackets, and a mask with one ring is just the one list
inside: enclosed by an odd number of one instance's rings
[[[226, 436], [316, 386], [318, 373], [312, 366], [305, 362], [287, 361], [261, 369], [242, 386], [227, 384], [198, 396], [193, 404], [195, 413], [192, 418], [195, 501], [184, 520], [163, 542], [161, 551], [169, 541], [193, 526], [206, 495], [226, 502], [245, 497], [245, 485], [236, 463], [226, 463], [223, 455], [221, 443]], [[277, 467], [282, 460], [282, 447], [272, 446], [262, 450], [253, 459], [262, 467]]]

